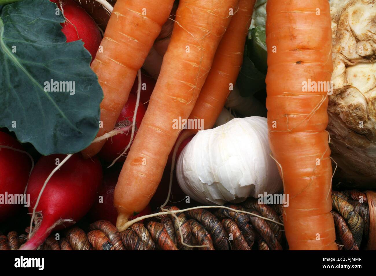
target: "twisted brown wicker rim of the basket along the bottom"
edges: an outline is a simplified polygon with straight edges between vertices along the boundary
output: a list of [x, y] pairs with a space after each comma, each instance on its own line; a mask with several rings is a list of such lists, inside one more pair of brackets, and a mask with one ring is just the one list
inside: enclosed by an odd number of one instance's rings
[[[370, 202], [365, 193], [334, 191], [332, 203], [339, 249], [358, 250], [369, 239], [374, 241], [375, 233], [370, 233], [370, 221], [374, 223], [374, 220], [370, 218]], [[226, 206], [282, 221], [282, 205], [258, 204], [257, 199], [248, 198], [240, 205]], [[174, 206], [166, 208], [179, 210]], [[87, 234], [78, 227], [68, 228], [61, 240], [50, 235], [38, 250], [282, 250], [288, 247], [282, 226], [249, 214], [218, 208], [214, 213], [196, 209], [176, 215], [179, 221], [170, 215], [157, 216], [144, 223], [134, 223], [121, 233], [104, 220], [92, 223]], [[25, 241], [26, 234], [18, 236], [15, 231], [0, 235], [0, 250], [17, 250]]]

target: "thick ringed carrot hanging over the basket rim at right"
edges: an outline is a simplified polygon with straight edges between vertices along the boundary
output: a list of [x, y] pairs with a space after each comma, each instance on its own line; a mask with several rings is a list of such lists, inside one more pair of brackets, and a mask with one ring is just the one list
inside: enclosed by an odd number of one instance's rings
[[292, 250], [337, 250], [325, 131], [328, 90], [303, 88], [305, 81], [331, 80], [329, 3], [269, 0], [267, 15], [269, 142], [290, 196], [283, 216], [287, 241]]

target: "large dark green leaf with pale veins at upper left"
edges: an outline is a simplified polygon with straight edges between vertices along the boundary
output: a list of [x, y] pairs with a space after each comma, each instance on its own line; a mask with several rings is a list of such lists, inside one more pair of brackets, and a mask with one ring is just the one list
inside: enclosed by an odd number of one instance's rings
[[[88, 146], [103, 97], [89, 52], [82, 41], [65, 42], [56, 8], [48, 0], [23, 0], [0, 13], [0, 127], [44, 155]], [[72, 92], [47, 92], [51, 79], [68, 82]]]

